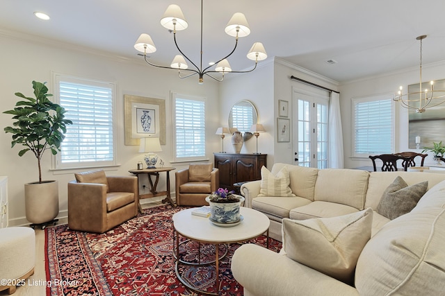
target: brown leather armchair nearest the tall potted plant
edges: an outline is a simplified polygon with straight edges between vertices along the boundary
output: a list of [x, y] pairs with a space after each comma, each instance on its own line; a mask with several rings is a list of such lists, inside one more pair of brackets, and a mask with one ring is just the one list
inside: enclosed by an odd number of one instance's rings
[[102, 234], [138, 214], [137, 177], [76, 173], [68, 183], [68, 227]]

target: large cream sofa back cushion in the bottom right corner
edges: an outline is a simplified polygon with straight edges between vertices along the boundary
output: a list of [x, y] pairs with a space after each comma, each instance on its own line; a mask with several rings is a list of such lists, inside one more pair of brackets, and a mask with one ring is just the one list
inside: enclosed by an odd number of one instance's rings
[[[439, 195], [445, 200], [445, 191]], [[359, 256], [359, 295], [443, 295], [444, 241], [443, 207], [425, 207], [389, 221]]]

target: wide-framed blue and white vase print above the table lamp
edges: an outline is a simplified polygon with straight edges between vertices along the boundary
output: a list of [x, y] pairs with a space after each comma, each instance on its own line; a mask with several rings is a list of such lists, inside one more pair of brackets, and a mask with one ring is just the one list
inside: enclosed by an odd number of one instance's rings
[[125, 145], [139, 145], [140, 138], [159, 138], [165, 145], [165, 100], [124, 95]]

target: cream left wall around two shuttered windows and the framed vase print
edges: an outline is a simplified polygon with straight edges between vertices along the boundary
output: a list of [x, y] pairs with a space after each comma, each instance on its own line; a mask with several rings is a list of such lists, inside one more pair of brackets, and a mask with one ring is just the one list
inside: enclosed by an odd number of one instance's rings
[[[98, 55], [76, 46], [36, 40], [35, 37], [0, 31], [0, 100], [1, 111], [13, 109], [19, 99], [15, 92], [32, 96], [32, 80], [47, 81], [49, 92], [52, 93], [51, 73], [64, 73], [82, 78], [92, 78], [115, 82], [117, 91], [117, 107], [115, 122], [118, 130], [118, 163], [120, 166], [107, 171], [108, 175], [131, 175], [128, 171], [136, 168], [143, 155], [138, 153], [138, 146], [124, 145], [124, 94], [147, 96], [165, 99], [167, 143], [161, 146], [163, 152], [159, 157], [165, 166], [177, 169], [188, 166], [188, 163], [170, 164], [172, 159], [172, 113], [170, 92], [203, 96], [207, 98], [207, 157], [213, 162], [213, 152], [220, 149], [220, 141], [215, 136], [220, 125], [218, 107], [218, 84], [207, 79], [204, 85], [198, 85], [197, 78], [181, 80], [175, 71], [156, 69], [143, 62], [135, 62], [113, 55]], [[129, 51], [133, 51], [129, 44]], [[135, 53], [136, 54], [136, 53]], [[69, 114], [67, 114], [69, 119]], [[11, 116], [0, 113], [0, 126], [12, 125]], [[31, 153], [19, 157], [21, 148], [10, 147], [11, 134], [0, 133], [0, 175], [8, 176], [9, 218], [10, 225], [27, 224], [24, 207], [24, 183], [38, 180], [37, 161]], [[74, 179], [72, 171], [53, 173], [51, 169], [51, 153], [43, 157], [42, 173], [44, 180], [58, 180], [60, 214], [67, 216], [67, 182]], [[170, 173], [172, 191], [175, 190], [175, 171]], [[161, 176], [164, 179], [164, 176]], [[159, 189], [165, 188], [163, 180]], [[144, 193], [144, 192], [143, 192]]]

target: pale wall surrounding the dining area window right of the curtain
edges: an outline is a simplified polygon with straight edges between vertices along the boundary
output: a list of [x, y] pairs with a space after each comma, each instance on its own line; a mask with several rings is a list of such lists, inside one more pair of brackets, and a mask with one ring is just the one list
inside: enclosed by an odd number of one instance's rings
[[[435, 64], [427, 64], [422, 67], [423, 81], [444, 79], [445, 62], [437, 62]], [[419, 67], [405, 69], [397, 73], [388, 73], [378, 77], [357, 80], [343, 84], [340, 89], [340, 108], [343, 125], [343, 144], [344, 159], [346, 168], [356, 168], [357, 166], [372, 166], [371, 159], [353, 158], [353, 130], [351, 129], [352, 121], [352, 98], [362, 96], [372, 96], [375, 94], [396, 94], [399, 86], [407, 89], [407, 85], [419, 82]], [[428, 112], [428, 110], [426, 111]], [[407, 109], [396, 103], [396, 151], [416, 151], [421, 150], [408, 148], [408, 113]], [[444, 139], [445, 139], [445, 131]], [[426, 158], [426, 164], [432, 163], [432, 158]]]

